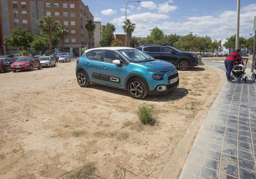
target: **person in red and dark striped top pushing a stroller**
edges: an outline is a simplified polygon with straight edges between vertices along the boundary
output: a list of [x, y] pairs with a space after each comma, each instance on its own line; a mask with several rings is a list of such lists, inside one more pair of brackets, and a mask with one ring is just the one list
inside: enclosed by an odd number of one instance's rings
[[227, 83], [232, 83], [230, 80], [230, 73], [234, 67], [235, 59], [241, 58], [240, 56], [240, 49], [236, 49], [235, 51], [231, 52], [224, 61], [226, 67], [226, 76], [227, 76]]

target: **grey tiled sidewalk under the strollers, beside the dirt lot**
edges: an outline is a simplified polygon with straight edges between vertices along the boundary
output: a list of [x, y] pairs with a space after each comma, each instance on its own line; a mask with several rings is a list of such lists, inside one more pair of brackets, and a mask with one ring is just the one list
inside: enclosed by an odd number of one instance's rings
[[256, 178], [256, 83], [226, 83], [197, 134], [180, 179]]

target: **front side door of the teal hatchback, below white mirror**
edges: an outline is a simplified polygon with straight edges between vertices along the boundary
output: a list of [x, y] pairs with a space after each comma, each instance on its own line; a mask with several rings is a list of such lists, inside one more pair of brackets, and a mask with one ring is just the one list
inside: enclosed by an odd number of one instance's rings
[[[113, 60], [120, 60], [120, 65], [113, 64]], [[116, 52], [105, 50], [101, 62], [101, 82], [124, 87], [126, 75], [126, 61]]]

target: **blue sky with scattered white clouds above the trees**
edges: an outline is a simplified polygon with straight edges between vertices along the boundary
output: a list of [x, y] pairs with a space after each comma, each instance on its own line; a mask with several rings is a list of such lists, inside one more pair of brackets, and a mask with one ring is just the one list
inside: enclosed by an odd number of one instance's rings
[[[229, 38], [236, 34], [236, 0], [82, 0], [88, 5], [94, 21], [115, 25], [115, 34], [125, 34], [121, 28], [126, 18], [136, 24], [132, 36], [147, 37], [150, 29], [161, 29], [165, 35], [184, 36], [193, 32], [197, 37]], [[127, 8], [126, 8], [127, 4]], [[256, 0], [240, 0], [239, 36], [254, 35]]]

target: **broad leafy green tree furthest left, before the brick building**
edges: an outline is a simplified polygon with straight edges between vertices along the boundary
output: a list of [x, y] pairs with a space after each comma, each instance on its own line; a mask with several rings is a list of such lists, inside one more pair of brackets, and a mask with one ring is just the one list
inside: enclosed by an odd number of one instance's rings
[[29, 32], [28, 29], [22, 29], [21, 27], [13, 28], [10, 31], [10, 35], [4, 36], [4, 44], [8, 44], [13, 47], [23, 46], [25, 50], [30, 47], [30, 42], [33, 41], [34, 34]]

